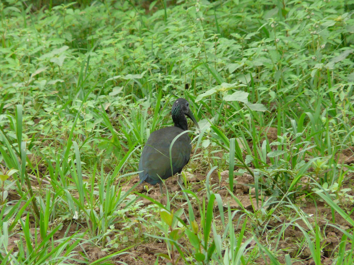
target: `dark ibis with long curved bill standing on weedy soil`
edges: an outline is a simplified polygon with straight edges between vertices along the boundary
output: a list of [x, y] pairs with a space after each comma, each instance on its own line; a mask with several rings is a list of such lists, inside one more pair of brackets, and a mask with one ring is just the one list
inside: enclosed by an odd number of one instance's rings
[[[161, 195], [163, 194], [161, 179], [167, 179], [177, 172], [181, 174], [183, 167], [189, 161], [192, 145], [188, 132], [183, 133], [188, 130], [187, 118], [185, 116], [192, 119], [199, 129], [199, 125], [190, 110], [189, 102], [184, 98], [179, 98], [173, 103], [171, 116], [174, 125], [161, 128], [150, 134], [139, 161], [139, 171], [141, 171], [139, 172], [140, 183], [144, 181], [152, 185], [159, 183]], [[175, 140], [171, 148], [171, 170], [170, 146], [178, 135], [179, 137]], [[180, 176], [178, 182], [181, 183]]]

